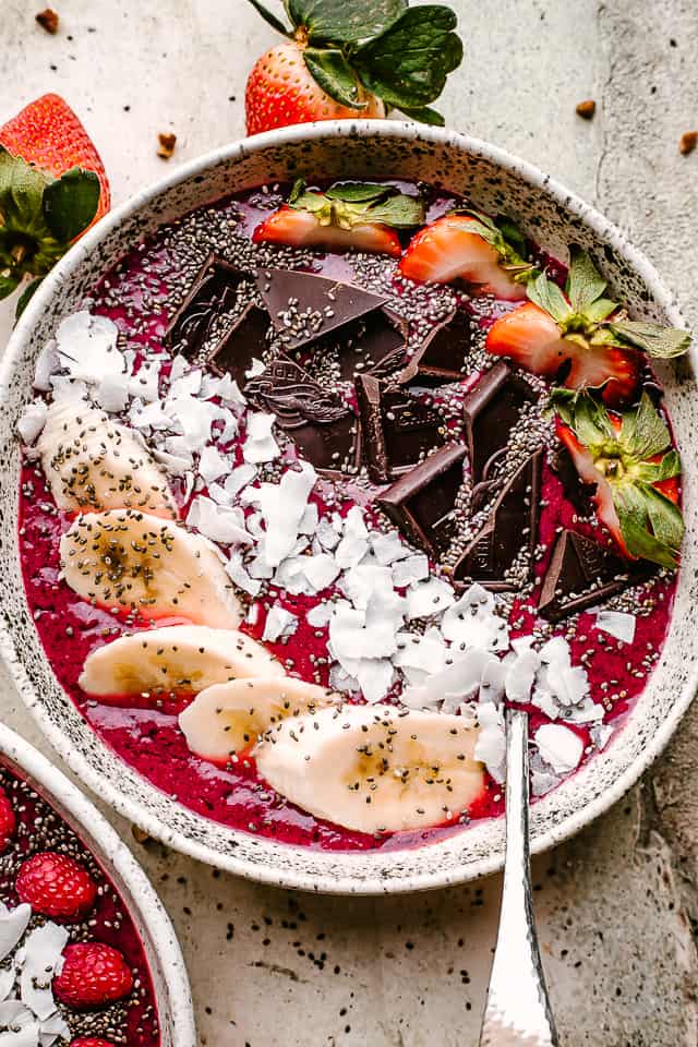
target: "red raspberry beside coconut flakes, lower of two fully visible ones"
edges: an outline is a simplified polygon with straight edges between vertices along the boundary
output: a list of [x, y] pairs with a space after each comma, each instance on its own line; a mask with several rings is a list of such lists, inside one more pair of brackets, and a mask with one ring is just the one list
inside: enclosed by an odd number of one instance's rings
[[101, 941], [65, 946], [63, 970], [53, 978], [53, 992], [68, 1007], [86, 1010], [128, 996], [133, 975], [118, 949]]

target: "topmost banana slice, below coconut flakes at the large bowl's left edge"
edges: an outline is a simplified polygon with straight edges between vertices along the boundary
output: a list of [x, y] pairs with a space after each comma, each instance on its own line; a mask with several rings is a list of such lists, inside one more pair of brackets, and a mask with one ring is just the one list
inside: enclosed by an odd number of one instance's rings
[[59, 508], [131, 508], [177, 517], [160, 467], [133, 430], [104, 411], [75, 400], [52, 404], [36, 446]]

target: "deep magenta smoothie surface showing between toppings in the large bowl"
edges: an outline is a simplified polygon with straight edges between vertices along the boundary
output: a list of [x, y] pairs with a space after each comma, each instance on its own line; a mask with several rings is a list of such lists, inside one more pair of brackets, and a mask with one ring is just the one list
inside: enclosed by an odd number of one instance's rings
[[[221, 202], [202, 216], [201, 228], [210, 230], [216, 221], [224, 224], [226, 218], [237, 213], [240, 216], [238, 231], [250, 238], [255, 227], [268, 217], [270, 209], [278, 206], [282, 192], [284, 188], [278, 193], [273, 191], [270, 194], [255, 190], [232, 202]], [[436, 217], [452, 202], [452, 197], [436, 189], [429, 191], [429, 217]], [[210, 239], [212, 245], [217, 246], [215, 239]], [[144, 250], [127, 256], [109, 274], [107, 280], [94, 292], [94, 311], [113, 320], [143, 359], [161, 354], [168, 322], [201, 261], [201, 257], [194, 261], [182, 257], [177, 246], [172, 246], [169, 230], [166, 228], [149, 241]], [[286, 256], [281, 256], [278, 265], [286, 263]], [[246, 257], [240, 258], [241, 267], [249, 264]], [[383, 261], [360, 264], [360, 275], [364, 284], [369, 282], [366, 274], [370, 273], [369, 266], [373, 264], [382, 265]], [[394, 262], [389, 264], [395, 266]], [[350, 279], [354, 272], [353, 266], [352, 255], [316, 254], [314, 257], [314, 272], [336, 279]], [[303, 267], [308, 268], [308, 265], [301, 263], [299, 268]], [[181, 276], [182, 270], [185, 273], [184, 277]], [[381, 275], [383, 276], [383, 270]], [[562, 265], [557, 278], [564, 278]], [[436, 305], [442, 301], [444, 293], [454, 296], [458, 305], [472, 315], [482, 340], [484, 332], [492, 323], [513, 308], [512, 302], [471, 299], [460, 287], [448, 288], [446, 292], [441, 288], [424, 286], [417, 290], [410, 281], [401, 280], [397, 273], [393, 274], [390, 286], [396, 301], [405, 304], [406, 315], [410, 310], [413, 313], [426, 313], [430, 304]], [[426, 314], [434, 317], [440, 315], [437, 309]], [[416, 322], [412, 315], [409, 321]], [[435, 325], [436, 320], [428, 323]], [[479, 359], [480, 365], [486, 362], [484, 356]], [[473, 370], [464, 374], [460, 386], [452, 397], [456, 405], [448, 419], [453, 438], [461, 438], [457, 414], [462, 397], [477, 382], [478, 373], [478, 370]], [[438, 399], [441, 394], [436, 393], [435, 396]], [[236, 460], [242, 460], [239, 453]], [[188, 705], [190, 696], [180, 695], [176, 700], [168, 700], [156, 708], [144, 698], [112, 696], [99, 701], [88, 698], [77, 685], [85, 658], [105, 642], [123, 635], [129, 628], [132, 630], [133, 625], [127, 626], [123, 619], [108, 611], [91, 606], [60, 580], [58, 539], [67, 527], [67, 518], [57, 513], [36, 465], [29, 461], [25, 464], [22, 483], [22, 566], [31, 612], [47, 658], [60, 683], [95, 732], [156, 787], [203, 817], [225, 826], [312, 849], [364, 851], [376, 847], [421, 846], [462, 830], [460, 825], [448, 825], [419, 832], [372, 837], [323, 822], [269, 790], [257, 775], [252, 759], [241, 759], [237, 765], [219, 768], [192, 755], [177, 723], [177, 713]], [[346, 481], [337, 485], [324, 484], [322, 492], [323, 497], [326, 495], [327, 503], [320, 497], [317, 504], [321, 509], [324, 505], [332, 504], [341, 515], [346, 515], [351, 505], [365, 505], [377, 489]], [[544, 575], [561, 527], [571, 527], [597, 539], [601, 537], [598, 527], [579, 518], [558, 477], [549, 465], [543, 473], [542, 502], [539, 529], [542, 556], [534, 565], [537, 579]], [[183, 510], [184, 506], [182, 515]], [[621, 726], [634, 699], [645, 686], [666, 634], [674, 585], [674, 580], [667, 578], [654, 579], [648, 586], [646, 595], [652, 606], [646, 616], [637, 616], [633, 645], [623, 645], [598, 630], [594, 627], [595, 612], [585, 612], [575, 622], [573, 635], [569, 637], [574, 662], [585, 665], [591, 696], [604, 705], [606, 723]], [[292, 675], [324, 686], [329, 682], [327, 629], [311, 627], [305, 615], [326, 595], [327, 593], [296, 597], [273, 589], [268, 599], [263, 599], [263, 613], [254, 625], [243, 626], [245, 631], [261, 640], [268, 605], [280, 602], [298, 617], [299, 627], [288, 640], [267, 646], [279, 659], [292, 661]], [[528, 635], [534, 627], [538, 621], [535, 600], [535, 588], [526, 599], [514, 600], [509, 614], [513, 636]], [[565, 623], [555, 629], [555, 635], [565, 633]], [[531, 732], [534, 733], [538, 726], [549, 721], [540, 710], [532, 712]], [[587, 729], [573, 725], [573, 730], [588, 746]], [[485, 792], [470, 808], [469, 817], [476, 820], [496, 817], [501, 813], [501, 786], [488, 778]]]

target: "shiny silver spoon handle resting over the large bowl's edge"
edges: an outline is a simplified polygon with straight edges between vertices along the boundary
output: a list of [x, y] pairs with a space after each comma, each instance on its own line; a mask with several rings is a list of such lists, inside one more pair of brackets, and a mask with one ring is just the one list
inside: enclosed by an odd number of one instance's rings
[[535, 937], [528, 839], [528, 714], [506, 712], [506, 862], [480, 1047], [557, 1047]]

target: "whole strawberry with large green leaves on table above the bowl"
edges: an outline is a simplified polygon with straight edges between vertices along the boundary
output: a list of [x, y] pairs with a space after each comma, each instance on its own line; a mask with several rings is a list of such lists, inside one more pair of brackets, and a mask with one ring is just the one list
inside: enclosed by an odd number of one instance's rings
[[313, 120], [381, 119], [399, 109], [443, 124], [430, 105], [462, 60], [443, 4], [408, 0], [286, 0], [292, 27], [250, 0], [288, 38], [257, 61], [248, 80], [248, 133]]

